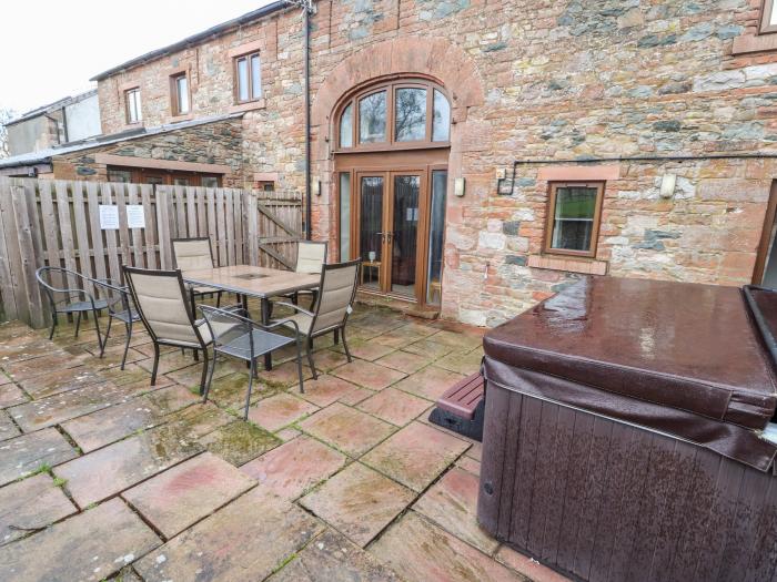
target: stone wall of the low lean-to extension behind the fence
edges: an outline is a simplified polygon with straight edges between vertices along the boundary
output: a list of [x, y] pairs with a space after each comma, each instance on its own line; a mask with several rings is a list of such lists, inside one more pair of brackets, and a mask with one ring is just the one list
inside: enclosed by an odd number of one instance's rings
[[63, 154], [53, 159], [58, 180], [107, 180], [105, 164], [94, 155], [114, 154], [127, 157], [165, 160], [199, 164], [228, 165], [224, 187], [242, 187], [243, 184], [243, 125], [240, 118], [205, 123], [165, 133], [121, 141]]

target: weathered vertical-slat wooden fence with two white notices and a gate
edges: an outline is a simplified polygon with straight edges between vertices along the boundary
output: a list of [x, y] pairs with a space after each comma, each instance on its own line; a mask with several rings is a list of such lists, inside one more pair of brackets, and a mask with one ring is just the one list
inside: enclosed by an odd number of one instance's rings
[[301, 233], [299, 193], [0, 177], [0, 318], [47, 325], [46, 265], [121, 280], [121, 265], [172, 268], [171, 239], [208, 236], [220, 266], [291, 268]]

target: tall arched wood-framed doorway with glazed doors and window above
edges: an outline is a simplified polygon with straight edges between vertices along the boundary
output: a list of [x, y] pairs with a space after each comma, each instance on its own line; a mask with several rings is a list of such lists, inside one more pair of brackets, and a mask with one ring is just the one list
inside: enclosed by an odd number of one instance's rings
[[451, 99], [423, 76], [350, 91], [334, 111], [341, 259], [362, 258], [361, 289], [438, 306]]

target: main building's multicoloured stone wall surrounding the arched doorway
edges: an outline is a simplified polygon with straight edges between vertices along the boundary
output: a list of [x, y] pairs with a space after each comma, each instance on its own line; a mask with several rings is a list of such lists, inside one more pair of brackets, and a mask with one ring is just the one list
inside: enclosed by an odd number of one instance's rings
[[[314, 235], [334, 236], [331, 126], [337, 99], [384, 71], [434, 76], [453, 94], [443, 316], [494, 325], [589, 265], [543, 263], [546, 169], [601, 162], [606, 184], [596, 259], [616, 276], [749, 282], [777, 167], [777, 52], [731, 54], [758, 0], [336, 0], [313, 18]], [[755, 16], [754, 16], [755, 14]], [[140, 82], [144, 118], [169, 121], [168, 72], [191, 68], [193, 115], [233, 108], [228, 51], [265, 47], [262, 109], [243, 118], [245, 173], [303, 187], [302, 29], [276, 13], [100, 82], [103, 129], [121, 129], [120, 88]], [[336, 79], [336, 82], [332, 81]], [[446, 84], [447, 81], [447, 84]], [[481, 92], [482, 99], [473, 98]], [[475, 95], [476, 96], [476, 95]], [[716, 159], [728, 155], [731, 157]], [[496, 183], [517, 169], [511, 196]], [[552, 161], [543, 163], [542, 161]], [[569, 161], [572, 163], [563, 163]], [[597, 162], [598, 163], [598, 162]], [[665, 173], [673, 198], [658, 196]], [[529, 265], [543, 265], [529, 266]], [[561, 269], [561, 270], [559, 270]], [[566, 269], [566, 270], [565, 270]]]

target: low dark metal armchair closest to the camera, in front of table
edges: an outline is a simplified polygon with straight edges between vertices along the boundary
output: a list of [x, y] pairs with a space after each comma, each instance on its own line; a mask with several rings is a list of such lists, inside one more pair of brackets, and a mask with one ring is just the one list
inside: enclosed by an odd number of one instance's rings
[[[202, 313], [204, 319], [205, 319], [205, 325], [208, 325], [208, 328], [211, 333], [211, 337], [213, 338], [213, 363], [211, 365], [210, 372], [208, 375], [208, 382], [205, 384], [205, 391], [203, 395], [202, 402], [205, 404], [208, 402], [208, 394], [210, 392], [211, 389], [211, 382], [213, 381], [213, 371], [215, 370], [215, 363], [219, 357], [219, 355], [222, 356], [229, 356], [233, 358], [238, 358], [244, 361], [248, 361], [250, 365], [250, 371], [249, 371], [249, 392], [245, 397], [245, 410], [243, 412], [243, 418], [248, 419], [249, 418], [249, 406], [251, 405], [251, 392], [253, 390], [253, 379], [256, 376], [256, 360], [264, 356], [265, 354], [270, 354], [271, 351], [275, 351], [276, 349], [281, 349], [292, 343], [296, 343], [296, 371], [300, 378], [300, 392], [304, 394], [305, 391], [305, 386], [304, 386], [304, 379], [303, 379], [303, 374], [302, 374], [302, 343], [300, 341], [300, 328], [296, 325], [296, 321], [293, 321], [291, 319], [282, 319], [279, 321], [275, 321], [271, 325], [262, 325], [258, 321], [254, 321], [251, 319], [249, 316], [250, 314], [248, 313], [246, 309], [243, 308], [232, 308], [232, 309], [221, 309], [219, 307], [212, 307], [210, 305], [201, 305], [200, 306], [200, 312]], [[243, 314], [243, 315], [239, 315]], [[226, 344], [219, 345], [219, 336], [215, 334], [215, 329], [211, 325], [211, 317], [213, 315], [221, 315], [226, 318], [234, 319], [239, 324], [243, 324], [248, 326], [250, 329], [250, 333], [243, 334], [242, 336], [232, 339], [231, 341]], [[290, 338], [287, 336], [282, 336], [280, 334], [273, 334], [272, 329], [279, 328], [281, 326], [285, 326], [286, 324], [293, 324], [294, 325], [294, 338]], [[259, 331], [259, 335], [256, 334]], [[248, 336], [248, 354], [245, 353], [245, 339]], [[268, 347], [268, 349], [262, 349], [261, 346], [258, 346], [256, 343], [261, 339], [270, 339], [266, 336], [272, 336], [272, 338], [275, 340], [273, 345]], [[240, 344], [243, 344], [242, 346]]]

